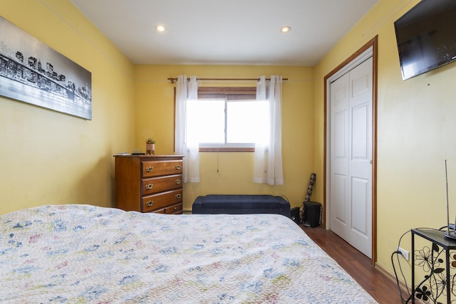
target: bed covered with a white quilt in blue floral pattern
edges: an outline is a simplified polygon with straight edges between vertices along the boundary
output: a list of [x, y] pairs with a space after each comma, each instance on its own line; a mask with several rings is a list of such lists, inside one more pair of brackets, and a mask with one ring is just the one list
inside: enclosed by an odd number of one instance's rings
[[0, 215], [1, 303], [376, 303], [279, 214]]

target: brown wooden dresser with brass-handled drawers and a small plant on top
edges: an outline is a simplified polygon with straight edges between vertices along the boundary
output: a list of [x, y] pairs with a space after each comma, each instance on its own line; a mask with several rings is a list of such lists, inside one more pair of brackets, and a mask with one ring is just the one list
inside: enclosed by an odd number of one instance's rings
[[182, 214], [182, 155], [114, 155], [115, 206]]

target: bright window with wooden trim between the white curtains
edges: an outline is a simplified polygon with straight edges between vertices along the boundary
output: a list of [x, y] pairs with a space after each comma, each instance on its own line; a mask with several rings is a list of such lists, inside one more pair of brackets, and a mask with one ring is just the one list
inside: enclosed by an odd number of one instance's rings
[[254, 151], [268, 123], [268, 107], [256, 93], [257, 88], [198, 89], [198, 100], [187, 102], [187, 126], [200, 151]]

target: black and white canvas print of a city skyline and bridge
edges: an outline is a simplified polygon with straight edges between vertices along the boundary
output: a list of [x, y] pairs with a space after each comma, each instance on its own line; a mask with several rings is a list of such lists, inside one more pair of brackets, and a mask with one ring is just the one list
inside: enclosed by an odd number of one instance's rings
[[92, 119], [92, 74], [1, 16], [0, 95]]

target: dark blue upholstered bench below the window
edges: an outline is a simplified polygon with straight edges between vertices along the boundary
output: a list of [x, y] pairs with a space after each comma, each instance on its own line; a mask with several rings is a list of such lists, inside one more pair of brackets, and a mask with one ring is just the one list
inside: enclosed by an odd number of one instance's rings
[[290, 203], [282, 196], [211, 194], [198, 196], [193, 214], [281, 214], [290, 217]]

